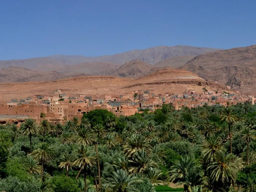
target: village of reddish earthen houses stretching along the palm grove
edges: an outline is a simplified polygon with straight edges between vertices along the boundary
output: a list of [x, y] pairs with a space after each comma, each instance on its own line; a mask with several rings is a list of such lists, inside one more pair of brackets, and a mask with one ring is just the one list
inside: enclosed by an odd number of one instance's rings
[[84, 113], [94, 109], [106, 109], [116, 116], [130, 116], [143, 111], [154, 111], [163, 104], [172, 103], [176, 110], [183, 108], [197, 108], [207, 105], [236, 105], [238, 102], [252, 102], [253, 96], [242, 96], [230, 93], [218, 93], [203, 89], [204, 93], [186, 90], [183, 94], [154, 94], [150, 90], [138, 90], [121, 95], [105, 95], [102, 99], [91, 96], [67, 96], [64, 93], [58, 96], [34, 96], [26, 99], [12, 99], [11, 102], [0, 103], [0, 118], [57, 118], [70, 120], [73, 117], [81, 118]]

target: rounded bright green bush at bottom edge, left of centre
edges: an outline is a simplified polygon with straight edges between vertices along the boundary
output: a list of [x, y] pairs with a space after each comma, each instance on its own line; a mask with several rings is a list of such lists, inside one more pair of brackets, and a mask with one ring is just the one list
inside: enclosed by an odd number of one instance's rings
[[79, 187], [76, 180], [62, 176], [54, 176], [52, 178], [52, 183], [55, 185], [55, 192], [78, 192]]

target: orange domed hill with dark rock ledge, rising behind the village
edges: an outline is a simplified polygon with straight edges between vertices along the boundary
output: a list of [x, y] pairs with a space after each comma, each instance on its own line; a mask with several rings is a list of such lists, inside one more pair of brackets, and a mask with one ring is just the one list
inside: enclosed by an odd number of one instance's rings
[[156, 93], [183, 93], [184, 90], [195, 90], [202, 93], [202, 88], [210, 90], [227, 90], [223, 85], [212, 81], [205, 81], [195, 73], [183, 69], [164, 69], [157, 70], [147, 76], [131, 81], [123, 89], [139, 90], [141, 88], [154, 90]]

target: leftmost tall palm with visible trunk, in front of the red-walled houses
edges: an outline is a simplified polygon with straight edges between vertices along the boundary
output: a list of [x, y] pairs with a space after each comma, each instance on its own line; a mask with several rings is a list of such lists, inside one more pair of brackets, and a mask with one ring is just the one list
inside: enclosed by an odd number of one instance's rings
[[21, 125], [21, 134], [29, 136], [30, 147], [32, 147], [32, 135], [38, 133], [35, 119], [26, 119]]

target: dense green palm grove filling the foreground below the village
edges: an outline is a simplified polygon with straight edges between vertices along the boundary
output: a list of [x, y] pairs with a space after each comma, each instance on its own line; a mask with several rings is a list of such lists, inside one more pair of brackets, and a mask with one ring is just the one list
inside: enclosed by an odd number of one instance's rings
[[94, 110], [64, 126], [0, 125], [0, 191], [256, 191], [256, 107], [204, 105], [116, 117]]

